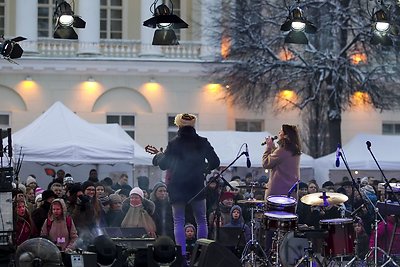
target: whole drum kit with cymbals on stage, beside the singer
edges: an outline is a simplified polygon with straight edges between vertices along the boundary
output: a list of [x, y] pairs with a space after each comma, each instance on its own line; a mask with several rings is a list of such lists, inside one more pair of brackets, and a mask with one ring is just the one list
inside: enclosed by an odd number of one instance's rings
[[[255, 185], [241, 187], [250, 188], [251, 192], [257, 188]], [[346, 195], [331, 192], [308, 194], [300, 199], [304, 204], [320, 207], [341, 205], [347, 200]], [[334, 266], [337, 262], [341, 266], [344, 258], [351, 258], [355, 254], [352, 218], [320, 220], [320, 230], [304, 230], [298, 227], [297, 201], [293, 197], [272, 195], [266, 200], [250, 198], [239, 200], [238, 203], [248, 205], [251, 214], [251, 238], [240, 259], [243, 266], [322, 267]], [[260, 212], [262, 216], [257, 216]], [[271, 236], [272, 247], [267, 255], [263, 245]], [[320, 246], [321, 257], [315, 254], [313, 245]], [[323, 258], [324, 264], [319, 258]]]

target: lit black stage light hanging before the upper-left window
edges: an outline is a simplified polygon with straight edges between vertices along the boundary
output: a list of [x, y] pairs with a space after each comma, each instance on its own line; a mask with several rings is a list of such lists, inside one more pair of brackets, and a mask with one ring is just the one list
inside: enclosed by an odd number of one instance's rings
[[54, 38], [78, 39], [78, 35], [73, 28], [85, 28], [86, 26], [86, 22], [79, 16], [74, 15], [71, 5], [65, 2], [65, 0], [56, 1], [54, 18]]

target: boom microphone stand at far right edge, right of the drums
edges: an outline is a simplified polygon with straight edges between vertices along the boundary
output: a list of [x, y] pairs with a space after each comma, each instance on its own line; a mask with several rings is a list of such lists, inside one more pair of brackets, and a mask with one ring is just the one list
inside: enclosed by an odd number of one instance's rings
[[[371, 142], [370, 142], [370, 141], [367, 141], [367, 142], [366, 142], [366, 145], [367, 145], [367, 149], [368, 149], [369, 153], [371, 154], [372, 158], [373, 158], [374, 161], [375, 161], [376, 166], [378, 166], [378, 169], [379, 169], [379, 171], [381, 172], [383, 179], [385, 180], [385, 186], [387, 186], [387, 187], [390, 189], [390, 191], [392, 192], [392, 195], [393, 195], [394, 199], [395, 199], [395, 200], [397, 201], [397, 203], [399, 203], [399, 205], [400, 205], [399, 199], [397, 198], [396, 194], [394, 193], [394, 190], [393, 190], [392, 186], [390, 185], [388, 179], [386, 178], [385, 173], [383, 172], [381, 166], [379, 165], [378, 161], [376, 160], [374, 153], [372, 153], [372, 151], [371, 151]], [[375, 209], [377, 210], [377, 208], [375, 208]], [[381, 216], [381, 217], [382, 217], [382, 216]], [[386, 224], [386, 222], [385, 222], [385, 224]], [[393, 229], [393, 231], [396, 231], [396, 229]], [[373, 251], [373, 252], [374, 252], [374, 259], [375, 259], [375, 261], [374, 261], [375, 265], [374, 265], [374, 266], [378, 266], [378, 265], [377, 265], [377, 264], [378, 264], [378, 255], [377, 255], [377, 254], [378, 254], [378, 250], [379, 250], [379, 251], [381, 251], [381, 252], [387, 257], [387, 258], [386, 258], [387, 260], [386, 260], [385, 263], [384, 263], [383, 265], [381, 265], [381, 266], [386, 266], [387, 264], [389, 264], [389, 263], [391, 262], [394, 266], [399, 267], [399, 265], [392, 259], [392, 257], [390, 257], [390, 255], [389, 255], [386, 251], [384, 251], [383, 249], [381, 249], [380, 247], [378, 247], [378, 244], [377, 244], [377, 243], [378, 243], [378, 223], [377, 223], [377, 218], [376, 218], [376, 216], [375, 216], [375, 242], [374, 242], [374, 245], [375, 245], [375, 246], [374, 246], [373, 248], [371, 248], [371, 250], [367, 253], [367, 255], [365, 256], [365, 260], [368, 259], [368, 257], [371, 255], [371, 253], [372, 253], [372, 251]]]

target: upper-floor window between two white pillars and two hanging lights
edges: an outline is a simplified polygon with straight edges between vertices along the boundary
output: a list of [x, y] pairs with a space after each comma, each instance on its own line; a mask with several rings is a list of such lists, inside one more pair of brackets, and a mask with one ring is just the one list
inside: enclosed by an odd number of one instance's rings
[[122, 39], [122, 0], [101, 0], [100, 38]]

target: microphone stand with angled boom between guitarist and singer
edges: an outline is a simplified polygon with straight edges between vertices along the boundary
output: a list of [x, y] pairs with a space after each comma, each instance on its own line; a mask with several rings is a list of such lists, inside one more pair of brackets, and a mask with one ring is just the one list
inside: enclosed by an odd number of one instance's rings
[[[220, 219], [221, 219], [221, 211], [220, 211], [220, 207], [219, 207], [219, 203], [221, 202], [221, 196], [222, 196], [222, 189], [223, 187], [220, 185], [220, 183], [218, 182], [218, 179], [221, 179], [223, 181], [223, 185], [224, 186], [229, 186], [229, 188], [233, 191], [234, 188], [228, 183], [228, 181], [222, 176], [222, 174], [229, 169], [229, 167], [231, 167], [241, 156], [245, 155], [246, 152], [242, 152], [240, 153], [228, 166], [226, 166], [221, 172], [217, 173], [216, 176], [213, 176], [210, 178], [210, 180], [207, 182], [206, 186], [203, 187], [194, 197], [192, 197], [189, 201], [188, 204], [192, 203], [200, 194], [202, 194], [206, 188], [208, 187], [209, 184], [211, 184], [212, 182], [216, 181], [217, 182], [217, 187], [220, 187], [217, 189], [218, 192], [218, 203], [217, 203], [217, 207], [215, 209], [215, 215], [216, 215], [216, 219], [217, 219], [217, 224], [216, 224], [216, 236], [214, 237], [215, 240], [219, 240], [219, 228], [220, 228]], [[215, 219], [215, 217], [214, 217]]]

